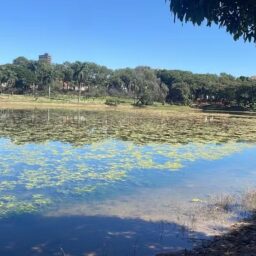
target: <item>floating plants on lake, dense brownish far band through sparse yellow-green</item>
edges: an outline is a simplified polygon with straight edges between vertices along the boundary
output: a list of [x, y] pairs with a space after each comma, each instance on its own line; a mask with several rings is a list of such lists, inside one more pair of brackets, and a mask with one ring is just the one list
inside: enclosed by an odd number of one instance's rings
[[105, 193], [136, 179], [132, 171], [176, 171], [220, 159], [248, 147], [235, 141], [255, 136], [254, 119], [205, 122], [201, 114], [6, 110], [0, 120], [0, 215]]

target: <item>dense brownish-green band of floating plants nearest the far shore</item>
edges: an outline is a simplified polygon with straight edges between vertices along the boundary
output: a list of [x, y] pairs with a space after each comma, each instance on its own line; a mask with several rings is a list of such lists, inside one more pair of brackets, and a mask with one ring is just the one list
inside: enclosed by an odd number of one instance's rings
[[74, 145], [113, 138], [144, 143], [255, 141], [256, 119], [118, 111], [2, 110], [0, 136], [17, 144], [57, 140]]

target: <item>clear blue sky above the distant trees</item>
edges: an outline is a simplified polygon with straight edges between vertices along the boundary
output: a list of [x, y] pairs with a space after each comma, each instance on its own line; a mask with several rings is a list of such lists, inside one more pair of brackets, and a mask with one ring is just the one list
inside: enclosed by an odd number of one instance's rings
[[173, 22], [165, 0], [2, 0], [0, 63], [17, 56], [110, 68], [256, 74], [256, 47], [224, 29]]

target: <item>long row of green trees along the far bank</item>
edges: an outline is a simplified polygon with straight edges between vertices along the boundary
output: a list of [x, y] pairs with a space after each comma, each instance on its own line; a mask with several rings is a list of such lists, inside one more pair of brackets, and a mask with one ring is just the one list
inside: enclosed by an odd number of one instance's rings
[[218, 104], [254, 108], [256, 80], [221, 73], [194, 74], [188, 71], [136, 67], [112, 70], [90, 62], [49, 64], [16, 58], [0, 66], [2, 93], [81, 97], [126, 97], [134, 104]]

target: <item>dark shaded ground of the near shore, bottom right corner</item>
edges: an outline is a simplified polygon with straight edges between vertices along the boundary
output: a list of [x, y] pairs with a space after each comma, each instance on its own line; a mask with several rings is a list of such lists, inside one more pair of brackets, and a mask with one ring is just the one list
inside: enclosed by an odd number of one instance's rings
[[229, 233], [213, 239], [193, 251], [158, 254], [157, 256], [255, 256], [256, 215], [232, 226]]

